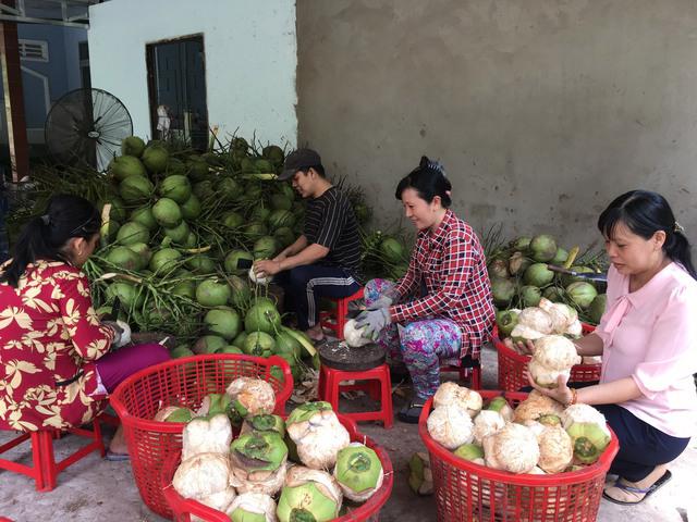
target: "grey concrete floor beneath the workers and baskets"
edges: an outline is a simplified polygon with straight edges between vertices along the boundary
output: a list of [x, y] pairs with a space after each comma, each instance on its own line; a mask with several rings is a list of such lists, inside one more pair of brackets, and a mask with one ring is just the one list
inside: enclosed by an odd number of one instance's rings
[[[484, 384], [496, 387], [496, 351], [484, 352]], [[395, 408], [399, 408], [395, 399]], [[109, 432], [109, 428], [105, 428]], [[362, 424], [362, 431], [383, 445], [392, 458], [395, 481], [392, 496], [381, 511], [386, 522], [421, 522], [436, 520], [433, 497], [417, 497], [406, 485], [405, 467], [414, 451], [424, 445], [414, 425], [395, 422], [392, 430], [380, 425]], [[9, 439], [0, 433], [0, 444]], [[76, 444], [66, 436], [56, 442], [58, 458]], [[5, 457], [5, 456], [3, 456]], [[26, 449], [14, 449], [7, 456], [11, 460], [30, 461]], [[692, 470], [692, 471], [690, 471]], [[673, 481], [644, 504], [632, 508], [607, 501], [600, 505], [600, 522], [697, 522], [697, 440], [693, 440], [680, 459], [671, 464]], [[692, 478], [690, 478], [692, 477]], [[160, 522], [142, 502], [133, 483], [127, 462], [108, 462], [97, 453], [86, 457], [59, 475], [58, 487], [50, 493], [36, 493], [27, 477], [0, 471], [0, 520], [7, 517], [14, 522], [37, 521], [89, 521], [100, 522]]]

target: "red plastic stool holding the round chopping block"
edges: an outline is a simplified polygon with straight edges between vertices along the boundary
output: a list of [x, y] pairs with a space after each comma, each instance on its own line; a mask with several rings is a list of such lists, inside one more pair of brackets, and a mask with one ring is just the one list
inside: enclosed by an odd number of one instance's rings
[[[342, 385], [341, 383], [344, 381], [366, 382]], [[335, 370], [325, 364], [321, 365], [319, 374], [319, 398], [329, 402], [337, 413], [339, 413], [339, 394], [341, 391], [355, 389], [367, 391], [370, 398], [379, 400], [380, 409], [358, 413], [342, 412], [341, 414], [356, 422], [382, 421], [382, 425], [386, 428], [392, 427], [394, 422], [392, 415], [392, 383], [390, 382], [390, 369], [387, 364], [380, 364], [370, 370], [360, 370], [357, 372], [347, 372], [345, 370]]]

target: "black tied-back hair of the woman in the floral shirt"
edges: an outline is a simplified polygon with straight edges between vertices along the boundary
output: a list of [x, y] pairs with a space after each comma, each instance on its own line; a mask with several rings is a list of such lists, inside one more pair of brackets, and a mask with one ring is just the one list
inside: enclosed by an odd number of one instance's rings
[[51, 198], [44, 215], [32, 219], [14, 245], [14, 254], [0, 282], [17, 287], [28, 264], [38, 259], [70, 261], [64, 249], [71, 237], [91, 239], [99, 233], [99, 212], [85, 198], [58, 195]]

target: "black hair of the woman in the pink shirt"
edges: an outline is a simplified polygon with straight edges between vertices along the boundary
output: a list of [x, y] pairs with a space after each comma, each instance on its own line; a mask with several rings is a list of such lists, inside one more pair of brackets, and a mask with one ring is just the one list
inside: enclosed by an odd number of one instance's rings
[[649, 190], [629, 190], [615, 198], [598, 217], [598, 229], [604, 237], [612, 238], [617, 223], [624, 223], [644, 239], [650, 239], [658, 231], [663, 231], [665, 254], [697, 279], [689, 241], [663, 196]]

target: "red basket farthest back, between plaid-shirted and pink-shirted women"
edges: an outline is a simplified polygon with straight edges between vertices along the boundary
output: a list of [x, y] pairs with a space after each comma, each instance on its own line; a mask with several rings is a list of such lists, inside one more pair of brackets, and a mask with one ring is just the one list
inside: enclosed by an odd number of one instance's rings
[[[590, 334], [596, 330], [595, 326], [582, 323], [584, 334]], [[522, 356], [512, 350], [499, 338], [499, 331], [494, 327], [491, 336], [493, 346], [499, 353], [499, 388], [506, 391], [517, 391], [518, 389], [529, 386], [530, 383], [523, 376], [523, 370], [530, 362], [530, 356]], [[576, 364], [571, 369], [568, 381], [572, 383], [587, 383], [600, 380], [600, 369], [602, 364]]]

